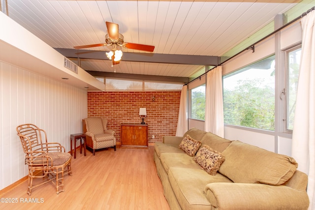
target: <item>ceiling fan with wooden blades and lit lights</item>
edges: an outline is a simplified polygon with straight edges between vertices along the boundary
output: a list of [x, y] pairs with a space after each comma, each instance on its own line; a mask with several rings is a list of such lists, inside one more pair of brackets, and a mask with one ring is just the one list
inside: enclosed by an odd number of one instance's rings
[[112, 46], [112, 51], [106, 53], [108, 59], [112, 60], [112, 65], [118, 64], [123, 56], [123, 52], [118, 50], [118, 46], [133, 50], [153, 52], [154, 46], [144, 44], [134, 44], [124, 41], [124, 36], [119, 33], [118, 24], [106, 22], [108, 34], [105, 35], [105, 43], [75, 46], [74, 49], [83, 49], [90, 47]]

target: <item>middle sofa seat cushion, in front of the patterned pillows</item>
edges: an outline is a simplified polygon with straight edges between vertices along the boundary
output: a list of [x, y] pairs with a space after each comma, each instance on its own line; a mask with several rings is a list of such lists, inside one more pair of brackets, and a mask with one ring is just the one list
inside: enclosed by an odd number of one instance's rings
[[200, 166], [195, 163], [193, 157], [190, 157], [186, 153], [161, 153], [160, 160], [166, 173], [168, 173], [170, 167], [194, 168], [200, 170]]

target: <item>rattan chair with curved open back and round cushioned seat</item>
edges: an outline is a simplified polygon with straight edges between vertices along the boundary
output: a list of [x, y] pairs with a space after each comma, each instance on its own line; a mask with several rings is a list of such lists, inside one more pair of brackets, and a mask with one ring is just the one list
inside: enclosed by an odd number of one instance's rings
[[[22, 124], [16, 127], [25, 153], [25, 164], [29, 167], [28, 194], [32, 188], [47, 182], [56, 185], [57, 194], [63, 192], [63, 175], [71, 172], [71, 154], [59, 143], [47, 142], [46, 132], [34, 124]], [[66, 173], [64, 173], [64, 169]], [[42, 178], [33, 184], [33, 178]]]

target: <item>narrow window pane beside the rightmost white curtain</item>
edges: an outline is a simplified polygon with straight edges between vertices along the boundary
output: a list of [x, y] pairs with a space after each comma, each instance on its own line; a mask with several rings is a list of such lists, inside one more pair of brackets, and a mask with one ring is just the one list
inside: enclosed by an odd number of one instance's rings
[[301, 60], [301, 46], [292, 48], [285, 52], [287, 63], [287, 81], [286, 81], [286, 130], [293, 130], [296, 91], [299, 79], [299, 68]]

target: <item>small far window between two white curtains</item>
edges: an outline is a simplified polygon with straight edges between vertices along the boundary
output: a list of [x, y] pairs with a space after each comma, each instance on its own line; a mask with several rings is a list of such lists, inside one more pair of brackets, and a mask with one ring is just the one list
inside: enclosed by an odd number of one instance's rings
[[198, 86], [190, 90], [190, 118], [205, 120], [206, 85]]

